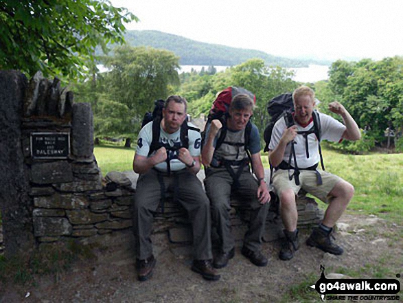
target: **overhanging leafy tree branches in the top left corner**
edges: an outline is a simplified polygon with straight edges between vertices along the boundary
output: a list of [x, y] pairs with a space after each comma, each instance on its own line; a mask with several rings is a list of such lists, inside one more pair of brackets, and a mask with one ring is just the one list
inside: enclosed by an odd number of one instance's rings
[[107, 0], [0, 0], [0, 67], [28, 76], [76, 78], [95, 62], [95, 47], [123, 43], [123, 23], [137, 21]]

